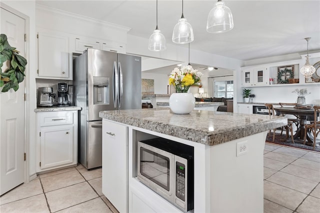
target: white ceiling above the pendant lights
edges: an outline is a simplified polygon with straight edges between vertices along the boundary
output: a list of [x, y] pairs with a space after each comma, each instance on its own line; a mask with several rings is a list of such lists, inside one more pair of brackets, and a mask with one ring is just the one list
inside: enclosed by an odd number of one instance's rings
[[[240, 60], [305, 53], [320, 49], [320, 0], [224, 0], [232, 30], [206, 32], [216, 0], [184, 0], [183, 14], [194, 32], [191, 49]], [[156, 25], [155, 0], [36, 0], [36, 3], [130, 27], [128, 34], [148, 38]], [[181, 16], [181, 0], [158, 0], [158, 27], [166, 42]], [[179, 44], [176, 44], [179, 45]], [[147, 47], [145, 47], [147, 48]]]

